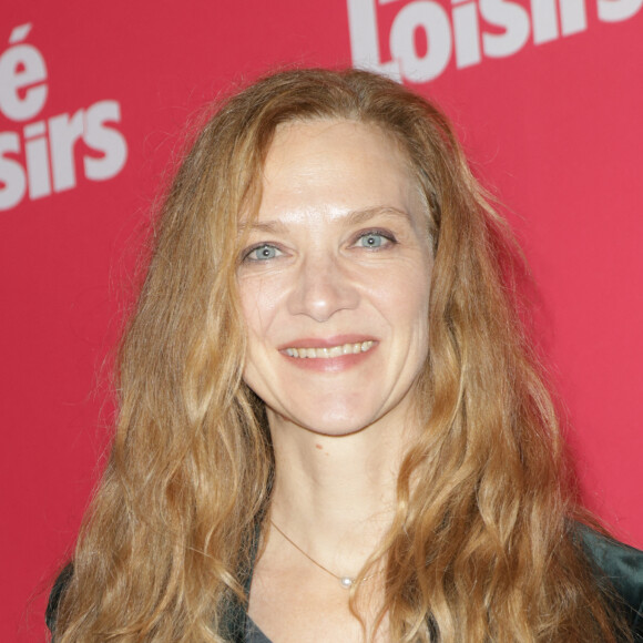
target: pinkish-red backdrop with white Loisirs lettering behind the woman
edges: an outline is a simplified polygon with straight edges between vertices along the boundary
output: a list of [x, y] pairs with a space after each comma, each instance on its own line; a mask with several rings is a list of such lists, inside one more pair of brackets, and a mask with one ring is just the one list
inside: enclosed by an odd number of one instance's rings
[[[643, 547], [643, 0], [4, 0], [1, 641], [42, 641], [110, 350], [182, 127], [231, 82], [351, 62], [446, 109], [539, 285], [588, 504]], [[104, 366], [104, 365], [108, 366]]]

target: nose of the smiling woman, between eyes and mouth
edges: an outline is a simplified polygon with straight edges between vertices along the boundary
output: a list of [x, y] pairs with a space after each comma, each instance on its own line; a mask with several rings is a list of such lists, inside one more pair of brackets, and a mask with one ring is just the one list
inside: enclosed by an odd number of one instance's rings
[[339, 264], [337, 257], [307, 257], [302, 262], [288, 297], [292, 315], [326, 322], [339, 310], [357, 307], [359, 292]]

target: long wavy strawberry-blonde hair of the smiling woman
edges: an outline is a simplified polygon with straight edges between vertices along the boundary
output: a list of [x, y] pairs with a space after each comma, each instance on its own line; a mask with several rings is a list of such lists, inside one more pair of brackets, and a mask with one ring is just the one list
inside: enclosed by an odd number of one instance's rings
[[279, 124], [319, 119], [380, 127], [401, 144], [435, 253], [425, 430], [369, 562], [386, 575], [368, 631], [386, 616], [396, 642], [614, 641], [618, 618], [581, 552], [557, 416], [517, 310], [508, 226], [436, 106], [365, 71], [315, 69], [225, 101], [169, 190], [57, 643], [229, 636], [275, 467], [263, 402], [242, 379], [239, 213], [258, 208]]

